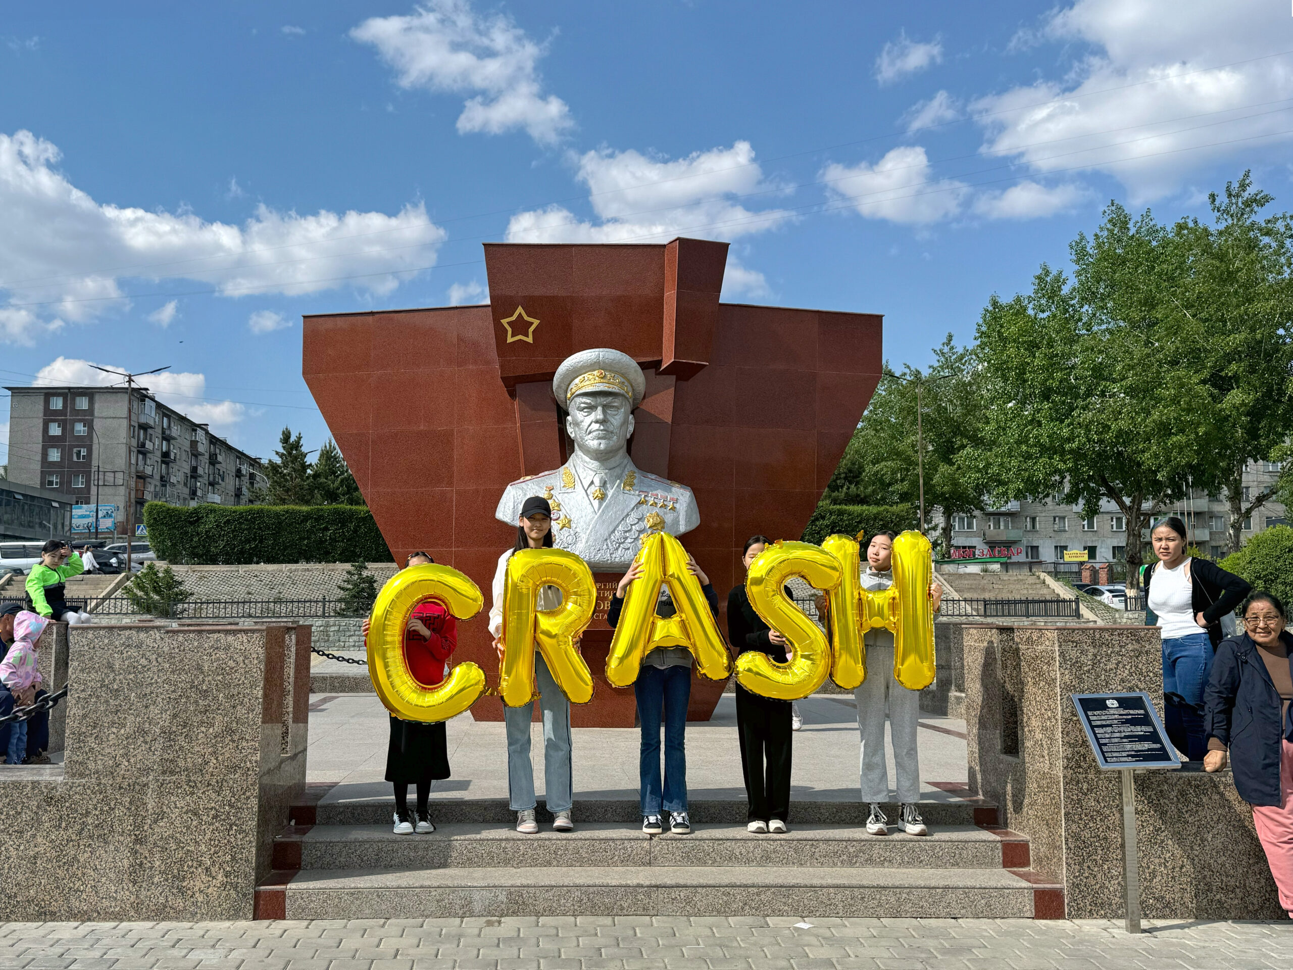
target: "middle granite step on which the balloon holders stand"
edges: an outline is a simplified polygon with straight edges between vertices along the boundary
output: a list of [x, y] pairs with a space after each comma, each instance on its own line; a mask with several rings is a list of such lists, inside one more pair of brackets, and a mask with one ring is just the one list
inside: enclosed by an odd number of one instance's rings
[[425, 835], [385, 825], [287, 829], [274, 841], [275, 869], [441, 869], [537, 867], [771, 867], [984, 869], [1027, 868], [1028, 841], [1005, 829], [935, 826], [930, 835], [868, 835], [857, 828], [795, 825], [755, 835], [745, 825], [648, 835], [617, 823], [573, 833], [522, 835], [511, 826], [447, 824]]

